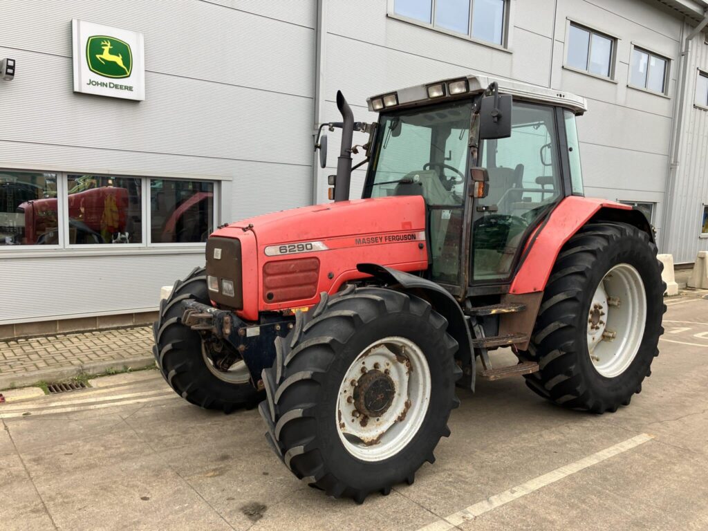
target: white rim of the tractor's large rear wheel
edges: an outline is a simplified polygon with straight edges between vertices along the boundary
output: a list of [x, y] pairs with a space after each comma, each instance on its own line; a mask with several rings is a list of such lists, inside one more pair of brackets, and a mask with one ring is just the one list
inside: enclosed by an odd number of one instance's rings
[[606, 378], [621, 375], [636, 357], [646, 326], [646, 292], [641, 275], [620, 263], [607, 271], [588, 309], [588, 354]]

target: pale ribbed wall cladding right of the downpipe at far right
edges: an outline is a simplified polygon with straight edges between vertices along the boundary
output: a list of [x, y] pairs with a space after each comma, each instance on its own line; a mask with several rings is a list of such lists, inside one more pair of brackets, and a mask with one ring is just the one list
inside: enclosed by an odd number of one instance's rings
[[708, 45], [697, 35], [688, 63], [683, 145], [671, 207], [670, 237], [674, 263], [693, 262], [698, 251], [708, 251], [708, 239], [700, 238], [703, 205], [708, 205], [708, 110], [697, 108], [696, 76], [708, 72]]

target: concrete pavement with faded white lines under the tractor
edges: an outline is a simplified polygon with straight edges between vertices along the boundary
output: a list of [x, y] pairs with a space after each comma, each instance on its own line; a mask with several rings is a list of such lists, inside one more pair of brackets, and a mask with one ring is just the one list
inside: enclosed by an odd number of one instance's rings
[[708, 300], [667, 304], [661, 355], [629, 407], [566, 411], [521, 378], [481, 381], [459, 392], [435, 464], [362, 506], [297, 481], [256, 411], [190, 406], [154, 370], [9, 399], [0, 529], [706, 530]]

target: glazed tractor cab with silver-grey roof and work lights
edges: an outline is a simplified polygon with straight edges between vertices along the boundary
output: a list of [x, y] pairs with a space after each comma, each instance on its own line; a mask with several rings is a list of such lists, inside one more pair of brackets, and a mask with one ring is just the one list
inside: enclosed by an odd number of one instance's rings
[[368, 103], [380, 115], [362, 197], [423, 196], [428, 275], [455, 295], [503, 292], [530, 232], [583, 195], [583, 98], [469, 76]]

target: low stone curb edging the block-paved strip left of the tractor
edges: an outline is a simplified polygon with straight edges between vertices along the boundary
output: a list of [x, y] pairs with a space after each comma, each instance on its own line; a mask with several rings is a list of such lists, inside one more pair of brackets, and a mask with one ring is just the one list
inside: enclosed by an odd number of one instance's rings
[[74, 365], [73, 367], [56, 367], [51, 369], [35, 370], [20, 374], [2, 375], [0, 374], [0, 389], [11, 387], [28, 387], [37, 382], [61, 382], [62, 380], [76, 377], [80, 374], [89, 376], [103, 375], [105, 372], [123, 372], [127, 367], [132, 370], [147, 369], [154, 367], [155, 358], [152, 355], [140, 356], [139, 358], [126, 358], [125, 360], [108, 360], [84, 365]]

